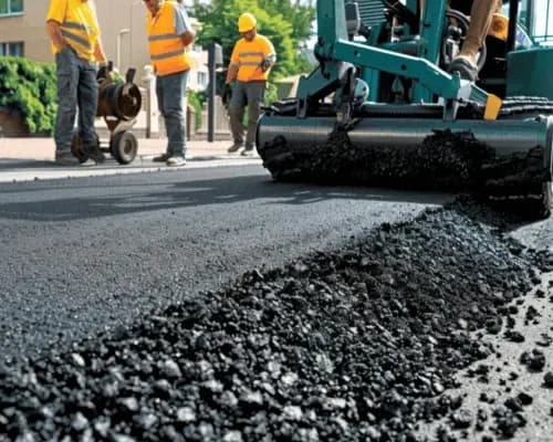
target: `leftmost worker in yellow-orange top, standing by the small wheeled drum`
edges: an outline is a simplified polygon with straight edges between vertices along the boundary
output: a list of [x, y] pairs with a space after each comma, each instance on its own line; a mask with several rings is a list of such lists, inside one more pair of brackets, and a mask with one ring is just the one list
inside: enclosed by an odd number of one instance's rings
[[55, 162], [80, 165], [71, 151], [79, 109], [82, 152], [96, 162], [104, 154], [94, 130], [98, 101], [97, 63], [106, 64], [93, 0], [51, 0], [46, 33], [52, 42], [58, 74], [58, 114], [54, 128]]

